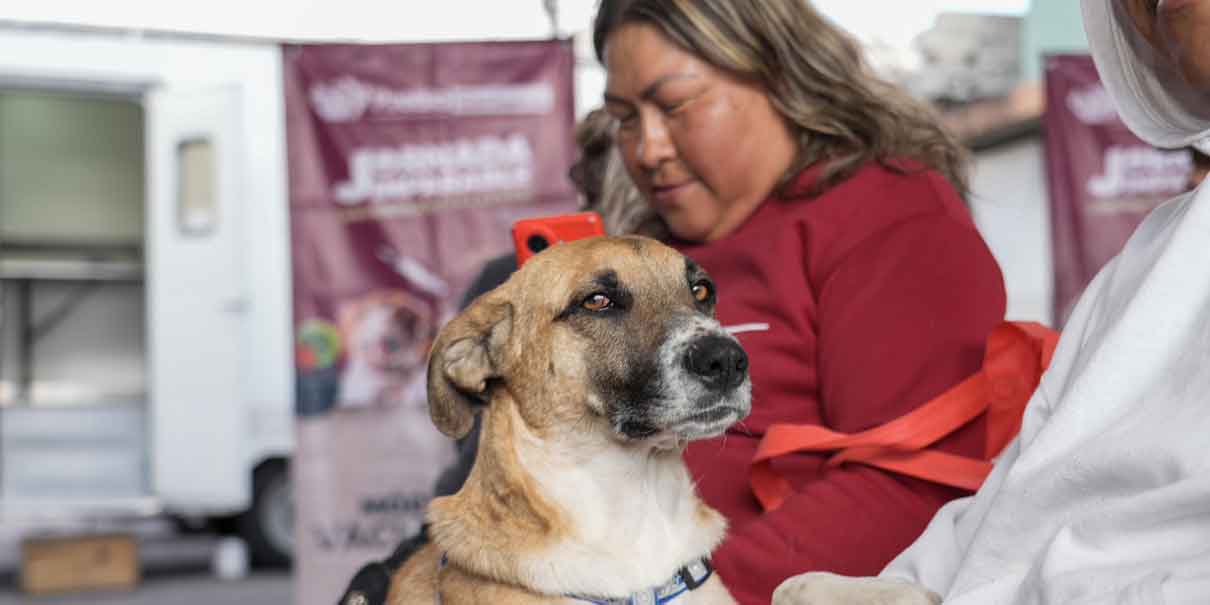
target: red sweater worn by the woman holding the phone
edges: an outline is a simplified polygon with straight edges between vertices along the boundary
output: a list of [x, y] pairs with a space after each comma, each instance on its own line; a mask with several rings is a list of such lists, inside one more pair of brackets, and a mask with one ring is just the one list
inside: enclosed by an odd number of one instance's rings
[[[796, 492], [765, 514], [748, 466], [773, 422], [863, 431], [979, 369], [1004, 286], [962, 201], [934, 172], [871, 165], [818, 197], [766, 201], [724, 240], [676, 247], [718, 283], [719, 321], [739, 327], [751, 361], [751, 415], [685, 453], [731, 523], [714, 553], [722, 580], [754, 605], [795, 574], [877, 574], [963, 494], [801, 454], [774, 462]], [[976, 419], [940, 449], [978, 456], [984, 428]]]

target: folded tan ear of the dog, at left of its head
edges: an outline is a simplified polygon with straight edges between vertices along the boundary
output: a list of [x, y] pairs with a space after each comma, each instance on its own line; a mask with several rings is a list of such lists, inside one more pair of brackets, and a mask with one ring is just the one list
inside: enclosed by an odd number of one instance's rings
[[500, 378], [512, 329], [513, 306], [502, 296], [480, 296], [442, 328], [428, 353], [428, 413], [440, 432], [460, 438], [471, 431], [489, 381]]

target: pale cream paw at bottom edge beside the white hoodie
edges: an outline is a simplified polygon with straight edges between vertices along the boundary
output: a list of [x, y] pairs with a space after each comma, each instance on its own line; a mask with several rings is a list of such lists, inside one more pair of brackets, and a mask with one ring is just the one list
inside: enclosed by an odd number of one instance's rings
[[939, 605], [937, 593], [903, 580], [847, 577], [813, 571], [773, 592], [773, 605]]

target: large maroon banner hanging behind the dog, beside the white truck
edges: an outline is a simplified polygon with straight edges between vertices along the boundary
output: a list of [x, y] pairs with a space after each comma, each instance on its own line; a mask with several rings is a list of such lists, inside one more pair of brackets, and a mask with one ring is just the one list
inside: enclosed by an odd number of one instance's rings
[[420, 526], [453, 459], [436, 330], [513, 220], [575, 206], [566, 41], [283, 50], [294, 261], [295, 601]]

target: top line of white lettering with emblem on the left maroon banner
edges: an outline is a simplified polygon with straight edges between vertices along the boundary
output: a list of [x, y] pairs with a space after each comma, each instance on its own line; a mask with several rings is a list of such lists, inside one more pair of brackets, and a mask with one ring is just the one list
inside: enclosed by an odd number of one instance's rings
[[392, 116], [543, 115], [554, 108], [551, 82], [392, 90], [345, 76], [312, 86], [309, 96], [327, 122], [359, 120], [367, 111]]

